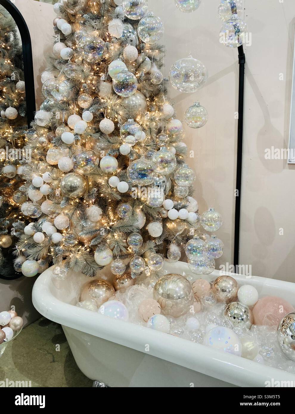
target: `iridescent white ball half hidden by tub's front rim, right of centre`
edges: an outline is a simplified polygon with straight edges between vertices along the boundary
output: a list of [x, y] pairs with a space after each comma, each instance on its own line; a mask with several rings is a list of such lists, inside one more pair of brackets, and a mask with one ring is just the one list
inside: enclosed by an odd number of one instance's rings
[[237, 334], [224, 326], [213, 327], [204, 338], [204, 345], [236, 356], [241, 356], [242, 345]]

